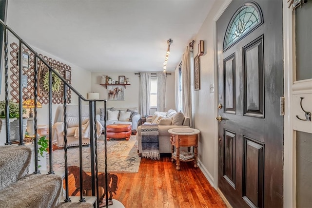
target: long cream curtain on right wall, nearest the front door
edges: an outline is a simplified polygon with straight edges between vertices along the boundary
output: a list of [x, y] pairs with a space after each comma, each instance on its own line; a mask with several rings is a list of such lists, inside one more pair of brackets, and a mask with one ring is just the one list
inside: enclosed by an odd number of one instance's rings
[[[191, 97], [191, 63], [190, 47], [187, 46], [182, 57], [182, 110], [192, 121], [192, 97]], [[191, 127], [193, 123], [191, 122]]]

